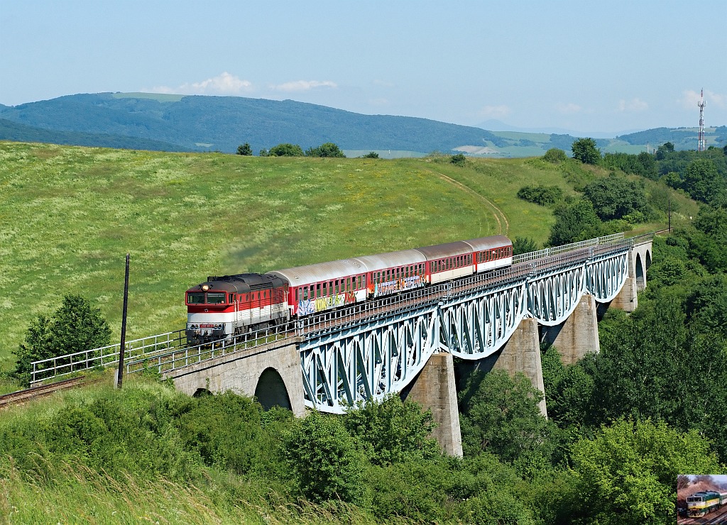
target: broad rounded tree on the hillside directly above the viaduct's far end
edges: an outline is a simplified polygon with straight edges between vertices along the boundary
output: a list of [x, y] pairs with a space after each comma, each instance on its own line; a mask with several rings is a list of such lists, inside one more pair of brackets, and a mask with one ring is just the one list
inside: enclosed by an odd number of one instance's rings
[[643, 182], [630, 181], [615, 174], [588, 184], [583, 189], [583, 196], [593, 203], [593, 210], [602, 221], [623, 219], [635, 212], [646, 216], [650, 212]]

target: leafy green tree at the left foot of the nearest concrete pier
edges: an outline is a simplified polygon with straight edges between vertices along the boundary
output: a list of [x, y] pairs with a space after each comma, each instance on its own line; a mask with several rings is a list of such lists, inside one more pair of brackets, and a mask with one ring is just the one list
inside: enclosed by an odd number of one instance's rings
[[389, 465], [405, 460], [431, 459], [441, 454], [437, 441], [429, 437], [435, 427], [431, 410], [397, 394], [358, 404], [344, 418], [348, 432], [370, 445], [374, 465]]

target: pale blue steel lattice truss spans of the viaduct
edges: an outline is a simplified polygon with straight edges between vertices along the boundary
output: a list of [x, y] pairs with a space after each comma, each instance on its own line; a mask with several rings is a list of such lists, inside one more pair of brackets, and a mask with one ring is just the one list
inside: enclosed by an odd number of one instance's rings
[[513, 272], [510, 280], [454, 286], [429, 304], [309, 333], [299, 346], [305, 404], [342, 413], [403, 390], [432, 354], [483, 359], [507, 343], [524, 317], [555, 326], [586, 293], [611, 301], [628, 276], [628, 251], [583, 249], [519, 266], [527, 271]]

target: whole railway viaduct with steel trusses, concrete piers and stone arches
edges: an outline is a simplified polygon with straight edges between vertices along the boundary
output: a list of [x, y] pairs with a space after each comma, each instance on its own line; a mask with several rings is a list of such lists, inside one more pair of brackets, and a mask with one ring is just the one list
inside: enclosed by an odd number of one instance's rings
[[[598, 318], [609, 306], [632, 312], [646, 288], [652, 239], [601, 237], [529, 253], [494, 274], [311, 317], [294, 336], [162, 375], [188, 394], [232, 390], [297, 416], [398, 393], [430, 408], [436, 439], [462, 455], [454, 357], [459, 375], [523, 373], [544, 391], [541, 342], [566, 364], [598, 352]], [[547, 417], [545, 401], [540, 409]]]

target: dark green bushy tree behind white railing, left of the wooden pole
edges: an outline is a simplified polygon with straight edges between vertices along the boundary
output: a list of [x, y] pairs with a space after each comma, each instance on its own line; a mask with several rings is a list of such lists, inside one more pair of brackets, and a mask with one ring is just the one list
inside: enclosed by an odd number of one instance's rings
[[40, 315], [31, 322], [24, 343], [15, 351], [15, 375], [27, 382], [31, 362], [107, 346], [111, 328], [101, 310], [80, 295], [67, 295], [52, 317]]

